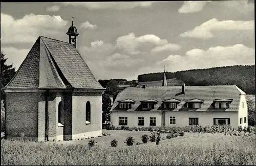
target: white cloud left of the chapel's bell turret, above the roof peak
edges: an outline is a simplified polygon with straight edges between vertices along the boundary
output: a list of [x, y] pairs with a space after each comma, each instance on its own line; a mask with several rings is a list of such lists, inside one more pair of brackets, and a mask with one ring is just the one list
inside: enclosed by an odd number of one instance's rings
[[1, 41], [4, 44], [34, 43], [40, 35], [53, 36], [59, 33], [61, 29], [66, 31], [67, 23], [68, 21], [55, 15], [35, 15], [31, 13], [23, 18], [14, 19], [8, 14], [1, 13]]

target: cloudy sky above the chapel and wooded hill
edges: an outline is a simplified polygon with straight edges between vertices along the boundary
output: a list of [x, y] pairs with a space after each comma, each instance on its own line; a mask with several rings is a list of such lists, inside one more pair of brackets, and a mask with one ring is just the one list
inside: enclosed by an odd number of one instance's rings
[[95, 78], [255, 64], [254, 1], [1, 3], [1, 51], [16, 70], [39, 36], [68, 42]]

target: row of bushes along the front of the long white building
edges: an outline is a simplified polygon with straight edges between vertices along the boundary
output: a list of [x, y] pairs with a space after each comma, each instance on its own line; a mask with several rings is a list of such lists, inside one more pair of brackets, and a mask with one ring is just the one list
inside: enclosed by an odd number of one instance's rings
[[129, 127], [129, 126], [108, 126], [106, 130], [129, 130], [129, 131], [158, 131], [161, 133], [179, 133], [183, 132], [205, 132], [205, 133], [226, 133], [233, 131], [245, 131], [255, 133], [255, 127], [245, 127], [242, 128], [239, 126], [238, 128], [233, 128], [230, 125], [212, 125], [212, 126], [198, 126], [198, 125], [189, 125], [186, 127]]

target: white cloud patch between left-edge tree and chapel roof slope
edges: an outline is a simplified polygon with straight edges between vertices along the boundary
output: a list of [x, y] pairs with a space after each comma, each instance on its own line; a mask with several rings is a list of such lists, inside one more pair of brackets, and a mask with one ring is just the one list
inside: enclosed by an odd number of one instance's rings
[[16, 67], [15, 69], [17, 70], [26, 58], [26, 56], [29, 53], [29, 49], [15, 49], [15, 48], [8, 48], [8, 47], [2, 47], [1, 51], [6, 54], [7, 64], [13, 64], [13, 67]]

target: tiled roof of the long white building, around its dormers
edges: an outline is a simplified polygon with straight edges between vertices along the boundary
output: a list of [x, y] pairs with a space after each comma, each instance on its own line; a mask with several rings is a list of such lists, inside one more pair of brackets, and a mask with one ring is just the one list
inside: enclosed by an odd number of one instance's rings
[[[244, 93], [235, 85], [186, 86], [185, 94], [182, 94], [181, 91], [182, 86], [127, 87], [117, 95], [111, 111], [119, 110], [118, 102], [116, 101], [125, 99], [131, 99], [136, 102], [132, 108], [127, 111], [141, 111], [140, 101], [148, 99], [164, 101], [172, 98], [181, 101], [177, 105], [177, 108], [172, 109], [172, 111], [188, 111], [185, 107], [185, 103], [194, 99], [202, 100], [203, 103], [201, 104], [201, 108], [193, 109], [193, 111], [238, 111], [240, 95]], [[214, 101], [216, 99], [232, 99], [232, 102], [227, 109], [216, 109], [214, 108]], [[158, 102], [154, 109], [150, 111], [160, 110], [167, 110], [164, 109], [163, 102]]]

